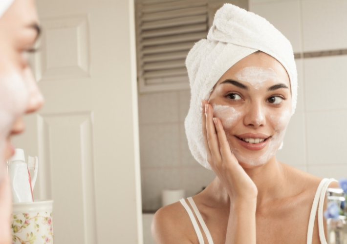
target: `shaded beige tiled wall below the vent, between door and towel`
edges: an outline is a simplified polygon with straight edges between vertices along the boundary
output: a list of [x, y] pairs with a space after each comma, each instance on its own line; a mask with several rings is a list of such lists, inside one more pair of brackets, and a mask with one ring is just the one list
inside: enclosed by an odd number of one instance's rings
[[142, 206], [161, 207], [161, 190], [185, 189], [193, 196], [215, 173], [198, 164], [190, 153], [184, 130], [190, 91], [139, 95]]

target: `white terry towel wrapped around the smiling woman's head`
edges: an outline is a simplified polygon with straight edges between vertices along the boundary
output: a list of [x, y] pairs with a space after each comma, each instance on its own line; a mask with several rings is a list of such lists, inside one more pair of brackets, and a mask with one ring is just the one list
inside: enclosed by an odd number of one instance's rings
[[186, 66], [191, 103], [185, 120], [189, 148], [197, 162], [211, 169], [201, 130], [201, 100], [208, 100], [220, 77], [246, 56], [262, 51], [282, 63], [291, 87], [292, 114], [297, 102], [298, 80], [290, 42], [264, 18], [226, 3], [215, 16], [207, 35], [190, 50]]

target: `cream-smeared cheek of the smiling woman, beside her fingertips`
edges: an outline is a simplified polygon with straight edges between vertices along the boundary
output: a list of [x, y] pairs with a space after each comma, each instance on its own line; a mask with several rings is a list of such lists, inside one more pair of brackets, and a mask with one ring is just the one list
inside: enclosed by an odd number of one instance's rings
[[213, 114], [215, 117], [220, 119], [223, 124], [224, 130], [231, 129], [241, 116], [241, 112], [237, 111], [235, 108], [227, 105], [217, 105], [213, 104]]

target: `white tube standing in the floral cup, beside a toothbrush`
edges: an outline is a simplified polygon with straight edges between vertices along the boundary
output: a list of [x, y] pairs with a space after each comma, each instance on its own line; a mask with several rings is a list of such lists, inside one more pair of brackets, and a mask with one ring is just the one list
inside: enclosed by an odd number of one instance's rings
[[12, 188], [13, 203], [34, 202], [30, 173], [25, 163], [23, 149], [17, 148], [9, 160], [8, 173]]

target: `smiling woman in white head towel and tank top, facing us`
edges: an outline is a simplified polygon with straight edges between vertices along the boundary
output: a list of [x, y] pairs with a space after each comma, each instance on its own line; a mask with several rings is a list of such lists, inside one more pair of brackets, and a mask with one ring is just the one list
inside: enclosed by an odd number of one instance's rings
[[192, 91], [185, 122], [189, 146], [217, 177], [193, 198], [157, 211], [156, 243], [325, 243], [319, 198], [337, 183], [275, 155], [296, 106], [289, 41], [261, 17], [226, 4], [186, 64]]

